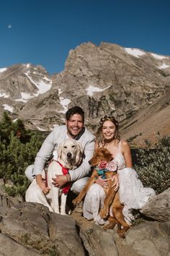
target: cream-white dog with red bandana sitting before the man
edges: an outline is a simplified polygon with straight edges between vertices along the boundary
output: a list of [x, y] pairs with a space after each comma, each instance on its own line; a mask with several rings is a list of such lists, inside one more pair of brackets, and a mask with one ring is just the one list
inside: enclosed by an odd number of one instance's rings
[[[44, 194], [40, 187], [37, 185], [36, 179], [28, 187], [25, 200], [26, 202], [39, 202], [42, 205], [45, 205], [49, 208], [51, 212], [61, 213], [66, 215], [66, 197], [63, 189], [54, 187], [52, 184], [52, 178], [55, 177], [55, 174], [63, 174], [63, 171], [68, 169], [74, 169], [76, 166], [79, 166], [82, 158], [82, 147], [81, 143], [77, 140], [67, 139], [64, 140], [57, 148], [57, 161], [53, 159], [50, 165], [48, 166], [48, 187], [50, 191], [48, 194]], [[53, 152], [53, 155], [56, 154], [56, 151]], [[62, 166], [63, 171], [62, 171]], [[45, 178], [45, 171], [42, 173], [42, 178]], [[47, 181], [46, 181], [47, 182]], [[59, 207], [59, 197], [61, 196], [61, 208]]]

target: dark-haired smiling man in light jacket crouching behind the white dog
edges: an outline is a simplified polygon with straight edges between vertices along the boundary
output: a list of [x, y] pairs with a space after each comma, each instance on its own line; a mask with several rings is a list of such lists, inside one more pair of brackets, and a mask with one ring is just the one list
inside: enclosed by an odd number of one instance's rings
[[73, 182], [71, 190], [76, 194], [79, 194], [89, 179], [87, 177], [90, 171], [89, 160], [92, 158], [94, 152], [95, 137], [84, 127], [84, 111], [82, 108], [74, 106], [66, 112], [66, 125], [55, 127], [53, 132], [50, 132], [50, 135], [48, 135], [42, 143], [42, 146], [37, 153], [34, 166], [28, 166], [25, 171], [25, 174], [30, 181], [32, 181], [32, 176], [35, 176], [37, 184], [44, 193], [47, 193], [49, 190], [48, 187], [45, 187], [45, 182], [42, 180], [42, 170], [45, 167], [45, 162], [48, 161], [54, 148], [67, 138], [72, 138], [81, 142], [84, 150], [84, 158], [81, 166], [75, 170], [69, 170], [68, 176], [57, 175], [56, 177], [53, 177], [54, 186], [63, 186], [69, 179], [69, 181]]

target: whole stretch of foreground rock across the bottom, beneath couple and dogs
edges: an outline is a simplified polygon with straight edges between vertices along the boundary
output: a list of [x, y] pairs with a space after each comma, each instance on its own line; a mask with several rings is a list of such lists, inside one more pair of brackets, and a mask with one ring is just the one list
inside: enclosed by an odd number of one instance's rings
[[[6, 202], [5, 196], [1, 195]], [[170, 221], [144, 221], [125, 239], [80, 213], [61, 216], [36, 203], [0, 202], [0, 255], [169, 256]]]

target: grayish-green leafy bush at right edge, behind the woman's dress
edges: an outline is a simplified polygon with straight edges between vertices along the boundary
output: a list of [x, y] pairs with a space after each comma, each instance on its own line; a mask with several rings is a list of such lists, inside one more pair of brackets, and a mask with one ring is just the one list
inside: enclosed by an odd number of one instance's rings
[[170, 187], [170, 137], [159, 138], [154, 147], [146, 140], [137, 158], [135, 170], [144, 187], [152, 187], [157, 195]]

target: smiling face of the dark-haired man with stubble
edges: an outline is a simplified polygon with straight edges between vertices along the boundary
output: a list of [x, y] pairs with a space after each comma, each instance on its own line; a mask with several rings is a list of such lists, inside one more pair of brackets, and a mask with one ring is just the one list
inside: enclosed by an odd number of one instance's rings
[[68, 137], [75, 138], [84, 127], [84, 122], [80, 114], [73, 114], [68, 121], [66, 121], [68, 130]]

